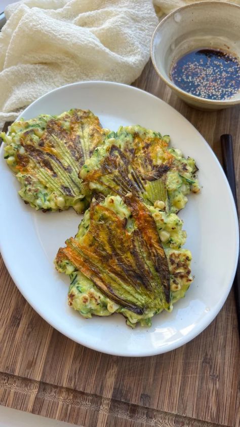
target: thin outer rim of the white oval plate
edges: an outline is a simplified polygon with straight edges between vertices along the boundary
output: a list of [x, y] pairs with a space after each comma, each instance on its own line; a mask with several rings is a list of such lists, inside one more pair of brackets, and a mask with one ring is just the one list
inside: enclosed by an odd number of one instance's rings
[[[49, 315], [45, 314], [45, 312], [43, 312], [41, 309], [39, 309], [37, 307], [37, 305], [34, 303], [34, 301], [31, 301], [31, 298], [28, 298], [28, 295], [25, 294], [24, 289], [22, 289], [21, 285], [18, 284], [18, 278], [16, 277], [16, 273], [13, 271], [11, 271], [11, 265], [10, 265], [10, 260], [8, 261], [7, 257], [5, 257], [5, 251], [4, 251], [4, 245], [1, 243], [0, 239], [0, 252], [2, 254], [2, 258], [4, 260], [4, 263], [7, 267], [7, 270], [10, 274], [10, 276], [12, 277], [15, 286], [18, 288], [19, 292], [22, 294], [22, 296], [24, 297], [24, 299], [28, 302], [28, 304], [37, 312], [37, 314], [39, 314], [51, 327], [53, 327], [54, 329], [56, 329], [58, 332], [60, 332], [61, 334], [63, 334], [64, 336], [66, 336], [67, 338], [70, 338], [71, 340], [73, 340], [74, 342], [77, 342], [87, 348], [90, 348], [92, 350], [95, 351], [99, 351], [99, 352], [103, 352], [106, 354], [110, 354], [110, 355], [116, 355], [119, 357], [150, 357], [152, 355], [156, 355], [156, 354], [162, 354], [165, 352], [169, 352], [172, 351], [176, 348], [181, 347], [182, 345], [185, 345], [186, 343], [188, 343], [189, 341], [191, 341], [192, 339], [194, 339], [195, 337], [197, 337], [199, 334], [201, 334], [215, 319], [215, 317], [217, 316], [217, 314], [219, 313], [219, 311], [221, 310], [221, 308], [223, 307], [223, 304], [225, 303], [229, 292], [231, 290], [232, 287], [232, 282], [235, 276], [235, 272], [236, 272], [236, 267], [237, 267], [237, 261], [238, 261], [238, 254], [239, 254], [239, 229], [238, 229], [238, 218], [237, 218], [237, 212], [236, 212], [236, 207], [235, 207], [235, 203], [234, 203], [234, 199], [232, 196], [232, 192], [229, 186], [229, 183], [227, 181], [226, 175], [222, 169], [222, 166], [216, 156], [216, 154], [214, 153], [214, 151], [212, 150], [212, 148], [210, 147], [210, 145], [207, 143], [207, 141], [205, 140], [205, 138], [202, 136], [202, 134], [181, 114], [179, 113], [177, 110], [175, 110], [170, 104], [168, 104], [166, 101], [164, 101], [163, 99], [143, 90], [143, 89], [139, 89], [136, 88], [134, 86], [130, 86], [130, 85], [126, 85], [123, 83], [117, 83], [117, 82], [109, 82], [109, 81], [101, 81], [101, 80], [97, 80], [97, 81], [85, 81], [85, 82], [75, 82], [75, 83], [70, 83], [67, 85], [63, 85], [59, 88], [53, 89], [47, 93], [45, 93], [44, 95], [42, 95], [41, 97], [37, 98], [36, 100], [34, 100], [31, 104], [29, 104], [23, 111], [22, 113], [19, 114], [19, 116], [17, 117], [17, 120], [19, 120], [21, 117], [24, 116], [24, 113], [30, 109], [35, 103], [37, 103], [39, 100], [49, 96], [50, 94], [57, 92], [59, 90], [62, 90], [63, 88], [66, 87], [72, 87], [72, 86], [88, 86], [88, 85], [112, 85], [112, 86], [124, 86], [126, 88], [128, 88], [130, 91], [137, 91], [137, 92], [143, 92], [145, 95], [154, 98], [155, 100], [157, 100], [158, 102], [162, 103], [162, 104], [167, 104], [168, 108], [170, 108], [171, 110], [174, 111], [175, 114], [177, 114], [179, 117], [181, 117], [181, 119], [185, 122], [187, 122], [188, 125], [190, 125], [190, 127], [192, 127], [194, 129], [195, 132], [197, 132], [198, 136], [201, 137], [202, 139], [202, 143], [206, 146], [206, 148], [208, 149], [208, 151], [210, 152], [210, 154], [214, 157], [219, 170], [221, 171], [223, 180], [225, 181], [225, 184], [228, 188], [228, 194], [230, 196], [231, 199], [231, 207], [232, 210], [234, 212], [234, 227], [237, 231], [236, 233], [236, 238], [235, 238], [235, 263], [234, 263], [234, 268], [232, 270], [232, 274], [231, 274], [231, 278], [229, 280], [228, 283], [228, 287], [226, 289], [226, 292], [224, 293], [224, 296], [222, 296], [218, 302], [218, 304], [214, 307], [213, 310], [211, 310], [211, 312], [209, 313], [208, 316], [206, 316], [205, 318], [203, 318], [203, 320], [201, 321], [201, 327], [199, 327], [198, 325], [193, 328], [192, 331], [190, 331], [187, 335], [183, 336], [183, 338], [181, 340], [179, 340], [180, 342], [174, 342], [174, 343], [170, 343], [168, 344], [166, 347], [162, 347], [162, 348], [151, 348], [150, 351], [143, 351], [141, 354], [135, 353], [134, 351], [131, 352], [131, 354], [126, 351], [124, 352], [119, 352], [119, 351], [114, 351], [114, 350], [109, 350], [106, 351], [106, 349], [101, 349], [96, 348], [96, 346], [93, 345], [89, 345], [86, 344], [86, 342], [83, 342], [81, 339], [76, 340], [75, 336], [73, 336], [73, 334], [71, 334], [71, 331], [68, 331], [68, 333], [65, 333], [61, 330], [61, 328], [58, 328], [58, 325], [56, 324], [55, 321], [51, 321], [51, 318]], [[2, 144], [2, 146], [0, 147], [0, 155], [2, 155], [3, 152], [3, 147], [4, 144]], [[1, 237], [1, 229], [0, 229], [0, 237]]]

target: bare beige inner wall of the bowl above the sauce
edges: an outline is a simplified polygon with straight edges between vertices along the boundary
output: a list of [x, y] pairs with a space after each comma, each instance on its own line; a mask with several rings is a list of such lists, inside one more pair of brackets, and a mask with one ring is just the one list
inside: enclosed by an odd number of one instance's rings
[[[197, 48], [221, 49], [240, 58], [240, 7], [229, 3], [201, 2], [170, 14], [156, 28], [152, 60], [170, 86], [170, 69], [185, 53]], [[240, 100], [240, 91], [229, 100]]]

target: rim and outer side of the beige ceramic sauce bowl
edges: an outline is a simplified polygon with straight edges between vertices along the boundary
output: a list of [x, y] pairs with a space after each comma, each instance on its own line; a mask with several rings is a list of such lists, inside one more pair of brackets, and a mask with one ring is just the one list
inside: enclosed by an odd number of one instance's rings
[[179, 95], [181, 95], [182, 97], [188, 97], [189, 101], [195, 101], [197, 103], [203, 103], [203, 104], [209, 104], [209, 105], [235, 105], [235, 104], [239, 104], [240, 103], [240, 98], [239, 99], [228, 99], [228, 100], [224, 100], [224, 101], [220, 101], [217, 99], [207, 99], [207, 98], [202, 98], [200, 96], [195, 96], [192, 95], [188, 92], [185, 92], [184, 90], [180, 89], [178, 86], [174, 85], [171, 80], [167, 80], [163, 74], [161, 73], [161, 71], [158, 69], [154, 58], [153, 58], [153, 43], [156, 37], [156, 33], [158, 32], [158, 29], [163, 25], [163, 23], [165, 23], [171, 16], [175, 15], [175, 13], [177, 12], [181, 12], [187, 8], [195, 8], [195, 7], [199, 7], [199, 5], [212, 5], [213, 3], [216, 3], [217, 5], [219, 5], [220, 7], [233, 7], [233, 8], [237, 8], [240, 10], [240, 6], [236, 5], [234, 3], [226, 3], [226, 2], [218, 2], [218, 1], [214, 1], [211, 0], [209, 2], [196, 2], [196, 3], [191, 3], [190, 5], [186, 5], [186, 6], [182, 6], [181, 8], [175, 9], [173, 12], [169, 13], [164, 19], [162, 19], [161, 22], [159, 22], [159, 24], [156, 26], [153, 34], [152, 34], [152, 39], [151, 39], [151, 60], [152, 60], [152, 64], [156, 70], [156, 73], [158, 74], [159, 77], [161, 77], [161, 79], [166, 83], [166, 85], [168, 85], [171, 89], [173, 89], [174, 91], [176, 91]]

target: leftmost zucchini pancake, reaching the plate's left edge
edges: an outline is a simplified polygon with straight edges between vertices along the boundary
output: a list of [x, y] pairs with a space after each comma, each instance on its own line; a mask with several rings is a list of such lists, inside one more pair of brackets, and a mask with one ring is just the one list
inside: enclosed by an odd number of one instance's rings
[[32, 207], [83, 212], [91, 194], [79, 169], [103, 144], [106, 133], [91, 111], [72, 109], [12, 124], [2, 133], [5, 159], [21, 184], [20, 196]]

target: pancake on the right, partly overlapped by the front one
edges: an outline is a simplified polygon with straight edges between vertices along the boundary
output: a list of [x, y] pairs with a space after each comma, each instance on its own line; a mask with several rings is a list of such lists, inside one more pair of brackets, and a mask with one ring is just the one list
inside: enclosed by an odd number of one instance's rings
[[197, 168], [192, 158], [169, 148], [169, 140], [138, 125], [120, 127], [107, 135], [79, 176], [89, 189], [104, 195], [133, 192], [149, 205], [163, 201], [168, 212], [178, 212], [186, 195], [199, 191]]

